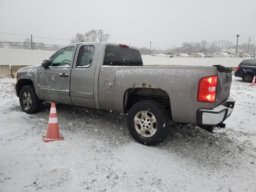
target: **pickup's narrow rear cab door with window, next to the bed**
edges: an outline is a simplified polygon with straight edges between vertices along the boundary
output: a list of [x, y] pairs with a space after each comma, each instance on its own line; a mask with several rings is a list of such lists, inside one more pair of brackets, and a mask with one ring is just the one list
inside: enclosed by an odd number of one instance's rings
[[78, 45], [70, 76], [70, 97], [73, 105], [94, 108], [94, 71], [98, 44]]

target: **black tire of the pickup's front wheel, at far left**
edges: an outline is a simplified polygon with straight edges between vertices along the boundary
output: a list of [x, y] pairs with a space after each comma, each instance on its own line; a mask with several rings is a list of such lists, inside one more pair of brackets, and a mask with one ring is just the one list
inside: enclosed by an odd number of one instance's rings
[[[24, 95], [24, 93], [26, 94]], [[28, 95], [30, 95], [30, 97]], [[28, 97], [26, 98], [26, 96]], [[33, 85], [23, 86], [20, 90], [19, 99], [20, 107], [24, 112], [31, 114], [40, 111], [42, 101], [40, 101], [36, 96]], [[23, 102], [24, 99], [26, 100], [25, 102]], [[27, 104], [28, 102], [30, 102], [30, 104]]]

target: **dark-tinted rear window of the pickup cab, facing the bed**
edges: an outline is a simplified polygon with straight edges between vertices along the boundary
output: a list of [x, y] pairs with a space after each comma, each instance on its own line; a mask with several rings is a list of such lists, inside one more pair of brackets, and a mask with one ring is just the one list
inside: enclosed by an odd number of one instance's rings
[[143, 66], [138, 50], [118, 46], [106, 46], [103, 65]]

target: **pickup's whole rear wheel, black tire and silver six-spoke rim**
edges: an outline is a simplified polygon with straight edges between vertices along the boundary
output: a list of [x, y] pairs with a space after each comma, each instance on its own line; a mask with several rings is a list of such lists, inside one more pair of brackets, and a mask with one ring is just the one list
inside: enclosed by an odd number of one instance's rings
[[170, 130], [170, 116], [158, 102], [137, 102], [128, 112], [127, 125], [132, 137], [141, 144], [161, 142]]

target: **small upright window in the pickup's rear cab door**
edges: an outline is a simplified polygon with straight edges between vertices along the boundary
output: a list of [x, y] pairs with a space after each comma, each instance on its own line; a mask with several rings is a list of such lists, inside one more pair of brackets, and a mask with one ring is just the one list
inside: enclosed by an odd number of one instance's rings
[[78, 52], [76, 68], [87, 68], [92, 64], [94, 46], [82, 46]]

